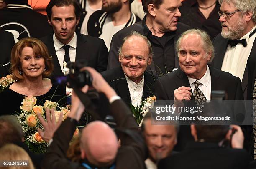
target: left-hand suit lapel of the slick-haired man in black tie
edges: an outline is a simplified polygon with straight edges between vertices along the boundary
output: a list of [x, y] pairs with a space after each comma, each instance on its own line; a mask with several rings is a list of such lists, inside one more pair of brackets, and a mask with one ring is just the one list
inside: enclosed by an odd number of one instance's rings
[[46, 46], [49, 50], [49, 53], [52, 56], [52, 61], [53, 61], [53, 64], [54, 64], [54, 71], [52, 73], [52, 76], [54, 76], [54, 75], [63, 75], [63, 72], [61, 70], [61, 66], [59, 65], [58, 57], [56, 55], [56, 50], [55, 50], [55, 47], [54, 47], [53, 35], [52, 34], [47, 37]]

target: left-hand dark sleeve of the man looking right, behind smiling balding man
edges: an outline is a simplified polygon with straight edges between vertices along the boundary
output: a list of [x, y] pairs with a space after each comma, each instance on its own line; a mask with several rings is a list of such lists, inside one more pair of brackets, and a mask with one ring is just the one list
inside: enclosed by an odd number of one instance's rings
[[122, 39], [123, 38], [118, 37], [117, 34], [113, 35], [112, 37], [108, 55], [108, 70], [120, 66], [120, 62], [118, 60], [118, 50], [122, 44]]

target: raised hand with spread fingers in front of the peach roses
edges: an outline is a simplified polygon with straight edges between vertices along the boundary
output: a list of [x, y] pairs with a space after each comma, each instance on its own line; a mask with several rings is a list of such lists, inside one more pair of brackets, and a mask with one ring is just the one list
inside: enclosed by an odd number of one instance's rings
[[[51, 115], [50, 115], [50, 112], [51, 112]], [[38, 117], [39, 121], [41, 122], [41, 124], [44, 126], [44, 132], [41, 129], [38, 129], [38, 132], [44, 141], [49, 142], [52, 139], [55, 131], [58, 129], [58, 127], [62, 123], [63, 113], [61, 112], [58, 122], [56, 122], [54, 109], [51, 109], [51, 111], [49, 111], [49, 109], [46, 109], [47, 122], [44, 121], [41, 114], [38, 114], [37, 117]]]

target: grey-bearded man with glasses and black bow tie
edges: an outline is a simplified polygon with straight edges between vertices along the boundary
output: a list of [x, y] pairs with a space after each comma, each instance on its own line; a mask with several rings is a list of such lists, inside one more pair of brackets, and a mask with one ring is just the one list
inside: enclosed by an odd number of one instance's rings
[[252, 100], [256, 77], [256, 1], [219, 0], [221, 34], [213, 40], [219, 70], [239, 77], [243, 96]]

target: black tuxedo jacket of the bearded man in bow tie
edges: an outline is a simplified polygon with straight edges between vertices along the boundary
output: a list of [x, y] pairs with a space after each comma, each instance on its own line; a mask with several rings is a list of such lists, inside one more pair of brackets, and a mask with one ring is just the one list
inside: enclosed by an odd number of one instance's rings
[[[221, 69], [223, 58], [228, 47], [228, 40], [218, 34], [213, 39], [215, 57], [213, 66], [216, 69]], [[243, 96], [245, 99], [252, 100], [254, 80], [256, 77], [256, 41], [254, 40], [251, 53], [247, 59], [246, 69], [242, 79]]]

